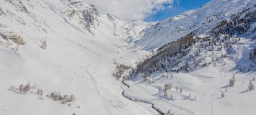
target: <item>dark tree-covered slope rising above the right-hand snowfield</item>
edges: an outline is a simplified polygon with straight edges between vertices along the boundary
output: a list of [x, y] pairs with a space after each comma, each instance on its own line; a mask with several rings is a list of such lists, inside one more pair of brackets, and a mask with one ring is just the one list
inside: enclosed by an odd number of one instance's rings
[[[237, 53], [247, 52], [251, 56], [243, 55], [234, 69], [241, 72], [255, 70], [255, 13], [255, 1], [251, 1], [237, 14], [217, 23], [208, 32], [200, 34], [196, 29], [177, 41], [159, 47], [156, 54], [138, 64], [134, 74], [169, 70], [189, 72], [206, 67], [226, 57], [232, 57], [236, 53], [234, 47], [237, 50], [237, 47], [244, 45], [240, 42], [241, 37], [252, 42], [242, 52]], [[239, 60], [238, 57], [232, 58], [234, 61]]]

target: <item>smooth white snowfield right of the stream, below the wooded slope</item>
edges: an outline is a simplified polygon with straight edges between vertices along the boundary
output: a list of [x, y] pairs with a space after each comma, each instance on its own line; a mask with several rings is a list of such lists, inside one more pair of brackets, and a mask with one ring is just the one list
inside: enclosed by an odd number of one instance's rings
[[[142, 82], [141, 79], [125, 81], [130, 86], [125, 90], [125, 95], [135, 101], [149, 101], [157, 109], [165, 113], [170, 110], [175, 115], [255, 114], [252, 110], [256, 107], [256, 92], [246, 90], [249, 80], [256, 74], [236, 74], [236, 83], [230, 88], [229, 79], [233, 73], [219, 65], [221, 63], [192, 73], [175, 73], [174, 78], [152, 75], [155, 83]], [[167, 91], [167, 98], [162, 91], [166, 83], [172, 83], [172, 90]], [[182, 93], [176, 92], [175, 87], [182, 88]], [[221, 92], [224, 92], [224, 98], [221, 98]]]

